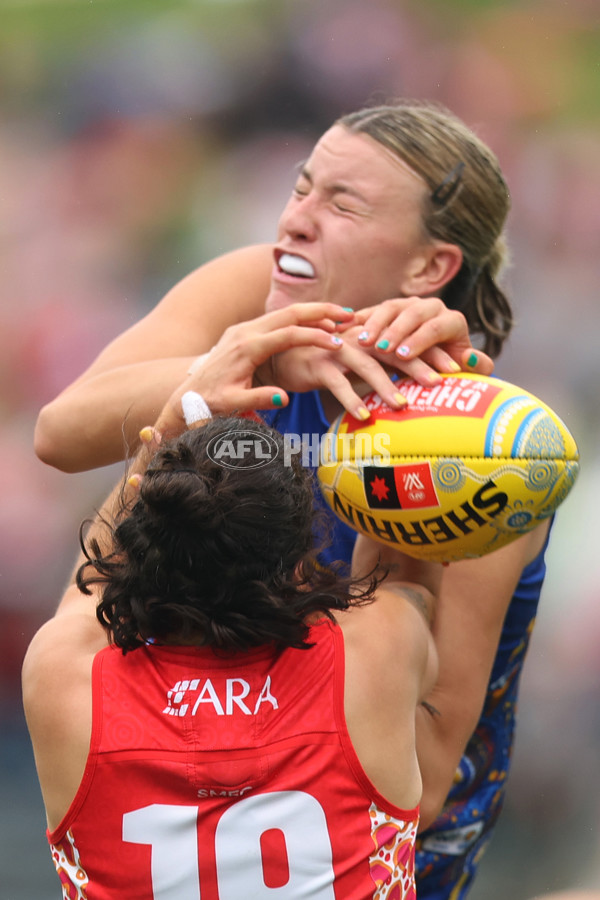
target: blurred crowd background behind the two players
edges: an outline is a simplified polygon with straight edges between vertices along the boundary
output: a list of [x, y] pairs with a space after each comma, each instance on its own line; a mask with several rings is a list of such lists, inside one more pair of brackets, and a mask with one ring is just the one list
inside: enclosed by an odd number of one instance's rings
[[[79, 521], [115, 477], [37, 461], [40, 406], [191, 269], [273, 239], [294, 167], [334, 118], [426, 97], [493, 147], [511, 187], [518, 327], [497, 371], [554, 406], [583, 458], [552, 540], [507, 807], [473, 898], [599, 886], [597, 0], [0, 9], [0, 781], [11, 767], [35, 780], [21, 659], [57, 602]], [[43, 837], [32, 802], [28, 828]], [[36, 855], [32, 871], [44, 867], [53, 887], [49, 855]], [[22, 881], [6, 900], [54, 896]]]

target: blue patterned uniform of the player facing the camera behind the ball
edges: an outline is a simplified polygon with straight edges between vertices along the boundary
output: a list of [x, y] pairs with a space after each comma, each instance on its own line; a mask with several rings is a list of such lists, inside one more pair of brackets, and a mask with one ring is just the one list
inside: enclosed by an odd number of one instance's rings
[[[316, 435], [328, 422], [317, 391], [290, 394], [285, 409], [263, 412], [265, 421], [282, 434], [305, 436], [309, 464], [318, 456]], [[349, 561], [356, 534], [331, 515], [332, 541], [323, 553], [325, 563]], [[504, 799], [515, 727], [519, 679], [533, 630], [546, 566], [544, 554], [521, 574], [504, 621], [484, 709], [456, 772], [444, 809], [417, 839], [419, 900], [462, 900], [491, 837]]]

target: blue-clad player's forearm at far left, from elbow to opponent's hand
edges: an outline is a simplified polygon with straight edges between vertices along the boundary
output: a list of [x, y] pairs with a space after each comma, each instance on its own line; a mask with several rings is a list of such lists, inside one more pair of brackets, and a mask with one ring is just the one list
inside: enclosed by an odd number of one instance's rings
[[122, 366], [68, 388], [40, 411], [35, 452], [64, 472], [81, 472], [124, 459], [140, 428], [154, 422], [186, 377], [192, 358]]

